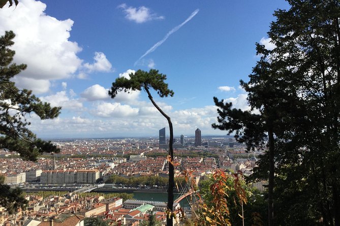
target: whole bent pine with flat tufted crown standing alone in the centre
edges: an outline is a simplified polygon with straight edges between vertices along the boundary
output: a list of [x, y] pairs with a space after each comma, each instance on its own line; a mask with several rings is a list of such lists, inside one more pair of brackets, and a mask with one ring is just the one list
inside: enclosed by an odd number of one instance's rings
[[109, 91], [109, 95], [111, 95], [111, 98], [116, 97], [118, 92], [131, 92], [135, 90], [144, 90], [148, 98], [150, 99], [151, 103], [154, 107], [157, 108], [157, 110], [166, 118], [169, 124], [170, 129], [170, 139], [169, 139], [169, 156], [168, 156], [168, 162], [169, 162], [169, 188], [168, 188], [168, 211], [169, 214], [167, 214], [167, 225], [172, 226], [173, 225], [173, 189], [174, 189], [174, 166], [173, 166], [173, 127], [170, 117], [165, 114], [165, 112], [157, 105], [157, 103], [153, 100], [153, 97], [151, 96], [150, 90], [153, 89], [157, 91], [158, 95], [160, 97], [167, 97], [167, 96], [173, 96], [174, 92], [172, 90], [168, 89], [168, 84], [164, 81], [166, 80], [166, 75], [159, 73], [158, 70], [150, 69], [149, 72], [143, 71], [143, 70], [137, 70], [135, 73], [129, 74], [129, 79], [125, 77], [117, 78], [115, 82], [112, 83], [111, 90]]

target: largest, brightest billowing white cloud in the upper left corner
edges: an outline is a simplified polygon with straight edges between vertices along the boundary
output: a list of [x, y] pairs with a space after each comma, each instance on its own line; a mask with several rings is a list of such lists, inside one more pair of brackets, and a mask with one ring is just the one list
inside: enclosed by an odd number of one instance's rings
[[[0, 33], [13, 30], [16, 34], [11, 47], [16, 51], [14, 61], [28, 65], [17, 78], [22, 84], [26, 82], [23, 78], [37, 82], [69, 78], [82, 62], [76, 55], [81, 48], [69, 41], [73, 21], [57, 20], [46, 15], [45, 9], [41, 2], [22, 0], [15, 13], [13, 8], [4, 8], [0, 13]], [[32, 85], [28, 82], [25, 87], [36, 92], [38, 85]], [[38, 92], [42, 89], [38, 88]]]

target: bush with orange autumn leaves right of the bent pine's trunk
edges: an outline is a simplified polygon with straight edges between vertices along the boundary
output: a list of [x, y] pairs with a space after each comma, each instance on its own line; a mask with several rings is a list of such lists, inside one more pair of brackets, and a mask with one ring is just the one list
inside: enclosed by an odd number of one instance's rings
[[264, 225], [264, 199], [241, 174], [215, 171], [201, 182], [199, 196], [196, 225]]

